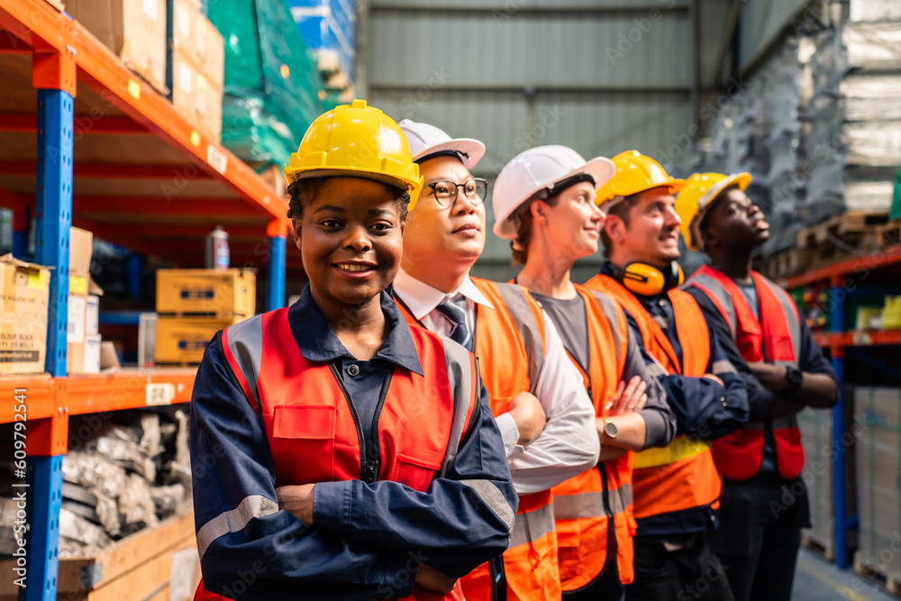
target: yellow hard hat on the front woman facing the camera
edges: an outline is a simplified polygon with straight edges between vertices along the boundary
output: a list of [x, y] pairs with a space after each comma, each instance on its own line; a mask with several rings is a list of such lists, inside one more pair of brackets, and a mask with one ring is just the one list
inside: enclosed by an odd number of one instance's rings
[[335, 106], [316, 119], [285, 166], [289, 184], [329, 176], [374, 179], [409, 190], [411, 209], [423, 189], [404, 132], [365, 100]]

